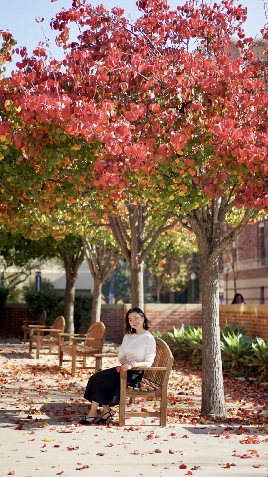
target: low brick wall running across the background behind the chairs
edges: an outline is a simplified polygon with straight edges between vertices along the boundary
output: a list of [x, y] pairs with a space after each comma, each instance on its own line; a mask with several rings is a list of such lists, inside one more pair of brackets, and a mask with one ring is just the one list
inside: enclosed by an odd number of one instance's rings
[[[123, 337], [124, 318], [130, 305], [102, 305], [101, 321], [106, 326], [106, 339], [118, 341]], [[182, 323], [201, 325], [200, 304], [155, 304], [144, 305], [144, 312], [151, 321], [150, 331], [165, 333], [179, 328]], [[21, 337], [22, 321], [30, 319], [25, 305], [8, 305], [0, 316], [0, 336]], [[268, 305], [220, 305], [219, 321], [223, 328], [228, 323], [237, 321], [239, 325], [247, 324], [248, 335], [260, 335], [268, 340]]]

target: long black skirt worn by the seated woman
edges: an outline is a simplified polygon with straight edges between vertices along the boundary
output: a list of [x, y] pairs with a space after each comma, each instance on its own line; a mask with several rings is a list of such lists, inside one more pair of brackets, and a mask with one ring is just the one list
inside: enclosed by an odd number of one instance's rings
[[[127, 383], [132, 387], [139, 387], [144, 371], [127, 371]], [[104, 369], [90, 376], [84, 398], [102, 405], [115, 406], [120, 398], [120, 373], [116, 368]]]

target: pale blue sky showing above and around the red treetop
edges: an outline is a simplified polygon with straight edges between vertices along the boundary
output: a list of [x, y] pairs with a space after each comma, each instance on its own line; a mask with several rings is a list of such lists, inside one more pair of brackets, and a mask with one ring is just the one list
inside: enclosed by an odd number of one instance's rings
[[[139, 10], [136, 7], [136, 0], [92, 0], [91, 4], [97, 6], [103, 3], [109, 10], [111, 7], [118, 6], [125, 10], [125, 15], [135, 20], [139, 16]], [[168, 4], [171, 10], [175, 10], [178, 5], [183, 5], [184, 0], [169, 0]], [[260, 29], [263, 27], [265, 20], [263, 0], [237, 0], [237, 5], [242, 4], [248, 8], [248, 18], [244, 24], [246, 36], [260, 37]], [[12, 2], [2, 2], [0, 15], [0, 30], [9, 30], [13, 38], [18, 41], [17, 46], [26, 46], [28, 52], [37, 46], [39, 41], [44, 41], [44, 35], [39, 23], [35, 21], [35, 17], [44, 18], [42, 27], [46, 37], [50, 40], [50, 51], [52, 56], [62, 59], [62, 53], [55, 44], [56, 32], [50, 29], [50, 20], [62, 7], [69, 9], [72, 0], [58, 0], [53, 3], [50, 0], [12, 0]], [[127, 6], [126, 6], [127, 5]], [[79, 34], [76, 26], [72, 29], [73, 36]], [[20, 57], [14, 55], [13, 65], [6, 65], [7, 73], [15, 69], [16, 62]]]

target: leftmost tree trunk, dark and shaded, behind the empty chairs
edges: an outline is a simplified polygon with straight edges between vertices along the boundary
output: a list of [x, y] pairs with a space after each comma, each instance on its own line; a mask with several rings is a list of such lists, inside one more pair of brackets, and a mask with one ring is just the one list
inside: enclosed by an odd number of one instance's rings
[[75, 300], [75, 280], [77, 279], [78, 270], [83, 262], [85, 253], [84, 250], [77, 255], [73, 255], [68, 250], [62, 250], [63, 263], [66, 274], [66, 288], [64, 298], [64, 318], [65, 318], [65, 333], [74, 333], [74, 300]]

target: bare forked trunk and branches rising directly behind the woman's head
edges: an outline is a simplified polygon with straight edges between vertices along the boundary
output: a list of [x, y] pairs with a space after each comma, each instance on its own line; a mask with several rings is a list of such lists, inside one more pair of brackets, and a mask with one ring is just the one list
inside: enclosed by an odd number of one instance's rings
[[[143, 309], [143, 266], [144, 259], [154, 247], [159, 235], [174, 227], [179, 219], [173, 219], [172, 223], [165, 225], [170, 218], [167, 214], [163, 218], [163, 223], [157, 227], [149, 222], [149, 201], [144, 201], [142, 205], [133, 203], [133, 199], [126, 200], [128, 216], [124, 221], [116, 209], [109, 213], [110, 228], [114, 239], [121, 249], [123, 256], [127, 260], [131, 270], [131, 303]], [[152, 207], [151, 207], [152, 208]]]

